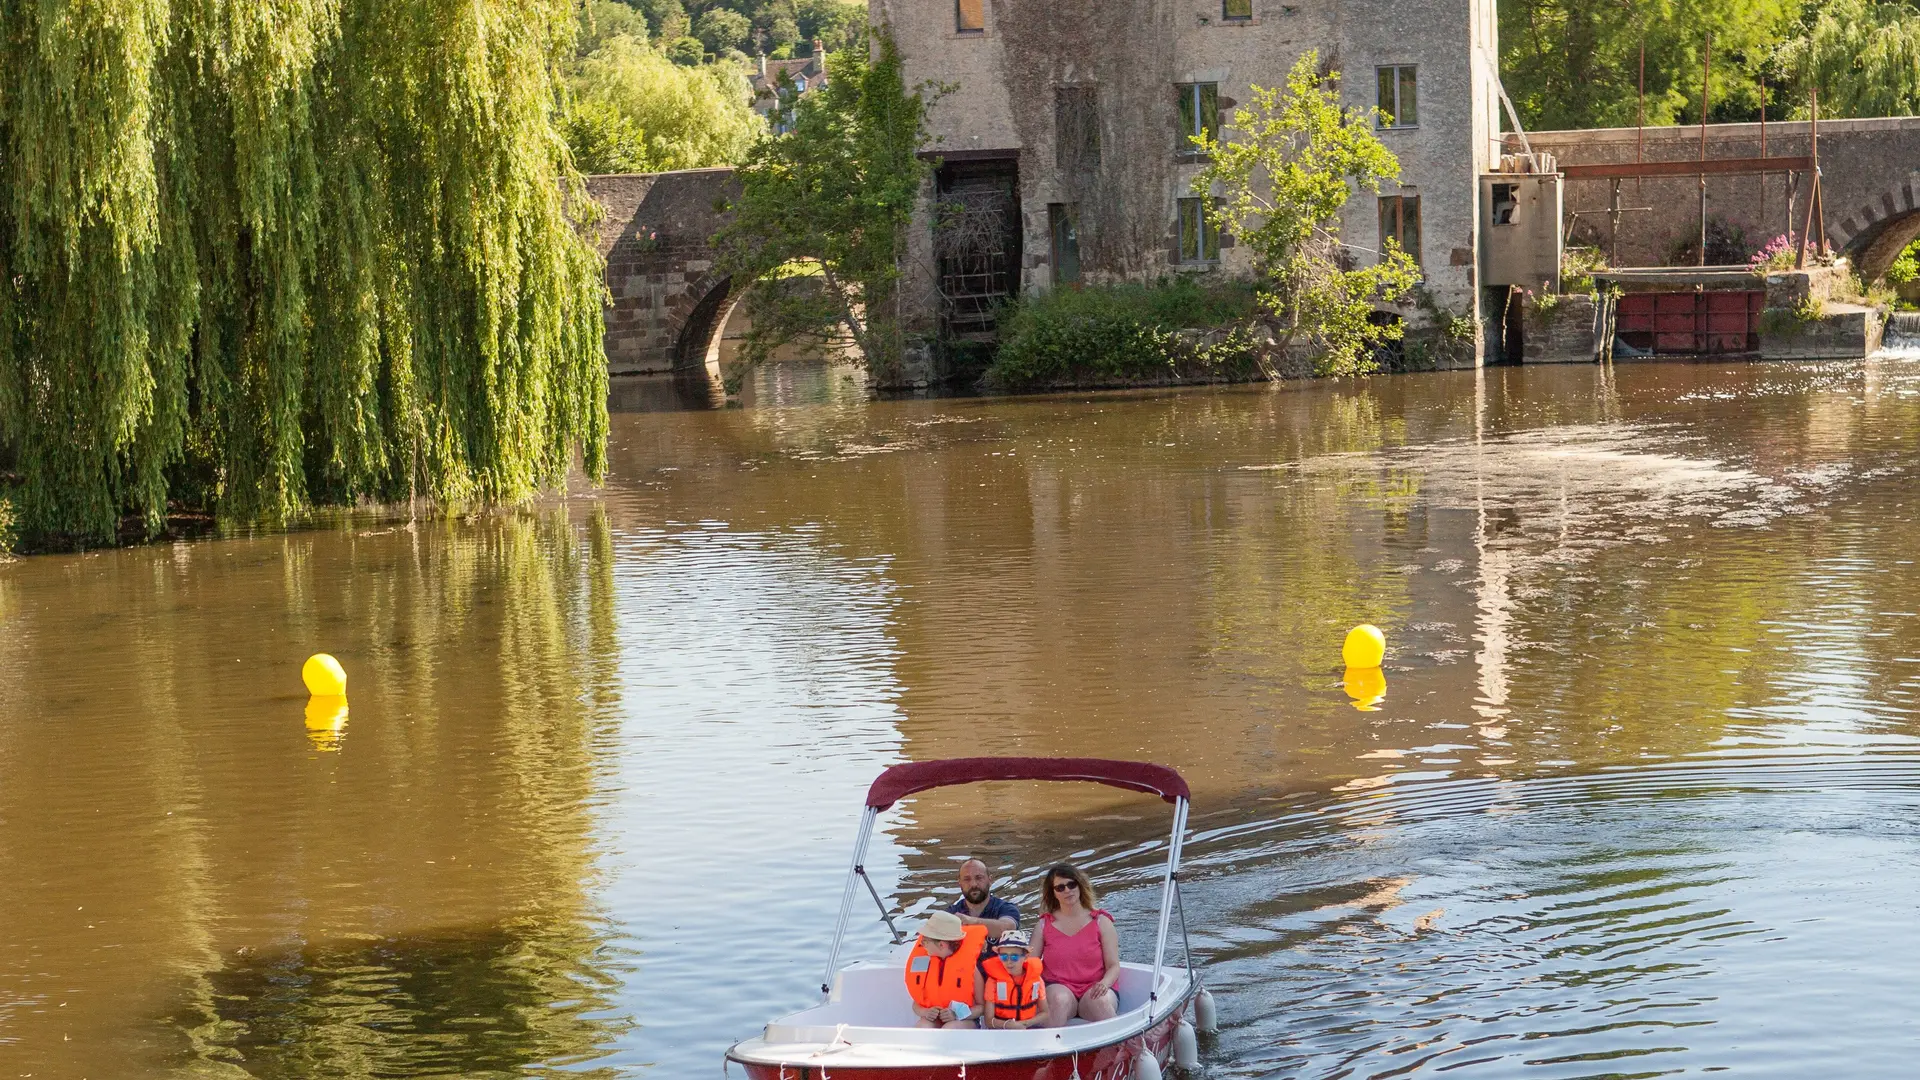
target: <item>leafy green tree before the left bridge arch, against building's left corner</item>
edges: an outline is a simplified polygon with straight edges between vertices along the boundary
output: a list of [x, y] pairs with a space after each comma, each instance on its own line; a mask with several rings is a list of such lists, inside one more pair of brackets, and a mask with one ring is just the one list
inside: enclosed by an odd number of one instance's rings
[[908, 90], [893, 42], [828, 56], [828, 85], [795, 98], [793, 129], [764, 138], [739, 169], [733, 221], [714, 238], [737, 282], [808, 267], [808, 288], [749, 292], [753, 363], [795, 342], [835, 342], [870, 371], [900, 357], [899, 258], [929, 165], [925, 88]]

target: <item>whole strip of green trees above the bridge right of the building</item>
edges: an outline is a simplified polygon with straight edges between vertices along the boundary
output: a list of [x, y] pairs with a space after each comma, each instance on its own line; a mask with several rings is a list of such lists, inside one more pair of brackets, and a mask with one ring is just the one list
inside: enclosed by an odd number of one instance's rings
[[1920, 4], [1908, 0], [1503, 0], [1501, 77], [1530, 129], [1920, 111]]

